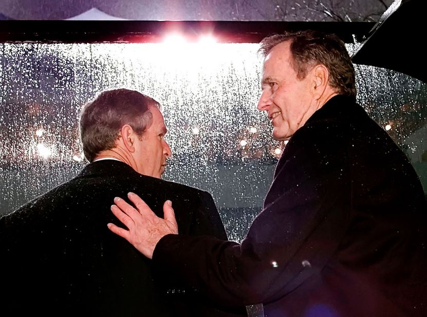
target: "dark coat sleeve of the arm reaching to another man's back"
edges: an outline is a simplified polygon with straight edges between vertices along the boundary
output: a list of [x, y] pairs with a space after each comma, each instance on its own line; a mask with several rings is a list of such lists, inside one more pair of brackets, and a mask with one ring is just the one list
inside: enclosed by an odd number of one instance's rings
[[322, 270], [348, 223], [348, 145], [333, 127], [327, 134], [300, 130], [241, 245], [166, 235], [154, 250], [155, 265], [230, 306], [276, 301]]

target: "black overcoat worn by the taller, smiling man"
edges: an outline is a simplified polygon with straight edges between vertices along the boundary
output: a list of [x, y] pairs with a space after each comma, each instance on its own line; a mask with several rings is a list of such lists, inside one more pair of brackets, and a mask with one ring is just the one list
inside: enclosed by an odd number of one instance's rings
[[166, 235], [153, 263], [268, 317], [427, 316], [426, 216], [405, 154], [338, 95], [290, 138], [241, 245]]

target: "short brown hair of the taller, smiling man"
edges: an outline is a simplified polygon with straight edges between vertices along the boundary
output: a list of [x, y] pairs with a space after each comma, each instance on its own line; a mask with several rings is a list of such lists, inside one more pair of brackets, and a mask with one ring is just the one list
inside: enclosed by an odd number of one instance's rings
[[356, 97], [355, 68], [344, 42], [335, 35], [321, 31], [305, 30], [274, 34], [261, 41], [264, 57], [282, 42], [291, 41], [292, 67], [299, 80], [310, 67], [321, 64], [329, 71], [329, 85], [339, 94]]

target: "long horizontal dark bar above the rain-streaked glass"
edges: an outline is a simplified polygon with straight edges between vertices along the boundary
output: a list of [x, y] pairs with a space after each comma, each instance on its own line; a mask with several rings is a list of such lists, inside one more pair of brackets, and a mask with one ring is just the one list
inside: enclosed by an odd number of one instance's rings
[[178, 31], [196, 39], [212, 33], [221, 43], [258, 43], [285, 30], [316, 29], [336, 33], [345, 43], [361, 42], [370, 22], [269, 21], [0, 21], [0, 43], [156, 43]]

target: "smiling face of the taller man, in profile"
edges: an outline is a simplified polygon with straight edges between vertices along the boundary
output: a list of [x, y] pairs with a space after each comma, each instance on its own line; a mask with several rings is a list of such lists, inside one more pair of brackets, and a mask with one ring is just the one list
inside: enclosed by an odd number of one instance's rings
[[258, 110], [266, 111], [276, 140], [288, 140], [315, 111], [312, 73], [298, 80], [291, 66], [290, 42], [276, 45], [266, 56]]

